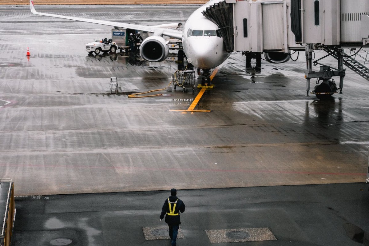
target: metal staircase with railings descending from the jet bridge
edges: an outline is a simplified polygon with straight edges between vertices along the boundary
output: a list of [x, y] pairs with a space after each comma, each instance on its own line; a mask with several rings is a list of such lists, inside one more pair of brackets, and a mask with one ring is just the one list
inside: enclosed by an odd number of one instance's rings
[[[337, 49], [325, 46], [324, 51], [338, 60]], [[348, 68], [358, 73], [364, 79], [369, 80], [369, 68], [365, 66], [365, 63], [369, 64], [369, 52], [365, 50], [362, 51], [366, 53], [365, 57], [360, 55], [358, 52], [354, 55], [351, 55], [351, 53], [350, 55], [344, 53], [343, 62], [344, 65], [346, 65]], [[356, 56], [362, 58], [363, 63], [359, 62], [358, 60], [355, 60]]]

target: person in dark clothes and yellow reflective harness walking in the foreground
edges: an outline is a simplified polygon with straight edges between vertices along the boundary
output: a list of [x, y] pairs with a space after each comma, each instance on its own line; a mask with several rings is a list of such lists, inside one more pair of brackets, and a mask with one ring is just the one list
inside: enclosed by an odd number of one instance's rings
[[162, 213], [160, 215], [160, 221], [164, 218], [165, 222], [169, 226], [169, 237], [172, 240], [172, 246], [177, 245], [177, 235], [179, 224], [181, 224], [181, 218], [179, 216], [179, 212], [183, 213], [186, 206], [183, 201], [180, 200], [177, 196], [177, 190], [173, 188], [170, 190], [170, 197], [164, 201], [164, 205], [162, 208]]

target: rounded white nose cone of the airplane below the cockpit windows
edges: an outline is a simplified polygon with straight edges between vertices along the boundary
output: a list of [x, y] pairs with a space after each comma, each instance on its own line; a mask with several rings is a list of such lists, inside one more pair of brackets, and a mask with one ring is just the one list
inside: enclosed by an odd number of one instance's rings
[[198, 38], [191, 42], [191, 60], [195, 67], [214, 67], [215, 44], [209, 38]]

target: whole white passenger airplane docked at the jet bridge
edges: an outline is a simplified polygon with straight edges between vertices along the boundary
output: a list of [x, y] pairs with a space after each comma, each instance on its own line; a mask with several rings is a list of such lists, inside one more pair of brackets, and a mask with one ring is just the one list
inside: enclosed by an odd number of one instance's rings
[[[206, 80], [208, 80], [210, 69], [219, 66], [230, 55], [230, 52], [227, 52], [225, 49], [223, 37], [218, 25], [205, 17], [202, 13], [206, 11], [209, 6], [221, 1], [222, 0], [210, 0], [194, 11], [186, 21], [183, 31], [155, 26], [39, 13], [34, 8], [33, 0], [30, 0], [30, 4], [32, 13], [38, 15], [151, 32], [154, 35], [146, 38], [142, 42], [140, 48], [141, 57], [149, 62], [161, 62], [167, 58], [169, 47], [163, 36], [180, 39], [183, 42], [183, 50], [188, 62], [192, 63], [192, 65], [198, 69], [202, 69]], [[288, 54], [284, 53], [281, 53], [281, 55], [288, 56]]]

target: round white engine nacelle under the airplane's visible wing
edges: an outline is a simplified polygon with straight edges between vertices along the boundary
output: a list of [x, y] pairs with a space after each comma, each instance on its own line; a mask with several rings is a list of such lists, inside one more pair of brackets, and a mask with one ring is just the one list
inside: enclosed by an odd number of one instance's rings
[[151, 36], [142, 41], [139, 54], [148, 62], [162, 62], [168, 57], [169, 47], [163, 37]]

